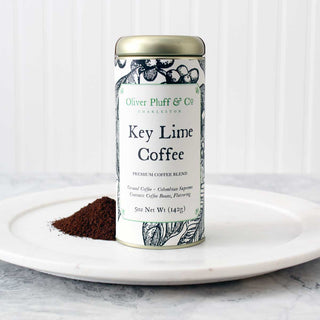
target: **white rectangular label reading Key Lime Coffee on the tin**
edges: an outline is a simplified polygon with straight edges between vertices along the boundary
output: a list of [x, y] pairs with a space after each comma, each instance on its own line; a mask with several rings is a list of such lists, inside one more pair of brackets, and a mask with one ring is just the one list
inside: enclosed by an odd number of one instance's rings
[[119, 89], [119, 209], [125, 220], [200, 214], [201, 91], [192, 84]]

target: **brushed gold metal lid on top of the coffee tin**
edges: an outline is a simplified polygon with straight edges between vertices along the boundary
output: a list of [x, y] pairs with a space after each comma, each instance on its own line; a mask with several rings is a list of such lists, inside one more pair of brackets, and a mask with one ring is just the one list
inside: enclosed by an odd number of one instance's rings
[[191, 36], [130, 36], [116, 43], [117, 56], [196, 56], [205, 54], [201, 38]]

